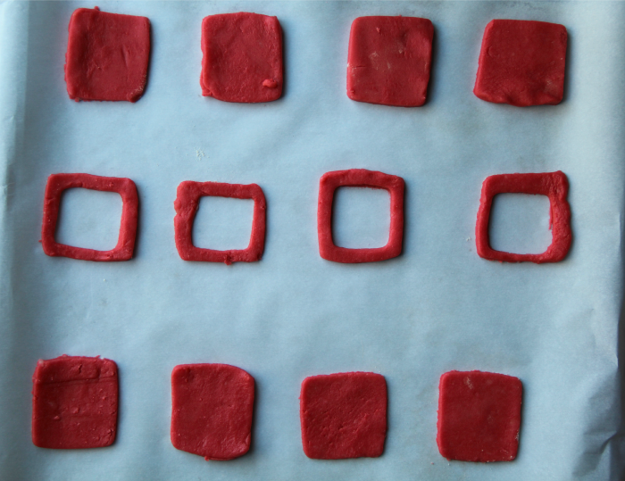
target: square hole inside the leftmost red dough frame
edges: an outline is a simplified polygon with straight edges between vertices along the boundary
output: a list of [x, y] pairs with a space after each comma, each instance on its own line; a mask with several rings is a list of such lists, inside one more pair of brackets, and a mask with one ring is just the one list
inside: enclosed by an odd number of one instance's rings
[[63, 192], [56, 241], [98, 251], [117, 245], [121, 226], [121, 195], [87, 188]]

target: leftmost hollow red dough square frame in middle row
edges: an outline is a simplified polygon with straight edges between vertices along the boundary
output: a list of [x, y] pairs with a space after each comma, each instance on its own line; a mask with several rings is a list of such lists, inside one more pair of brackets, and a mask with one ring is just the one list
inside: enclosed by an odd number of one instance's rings
[[[54, 240], [59, 218], [61, 197], [68, 188], [87, 188], [121, 195], [120, 237], [110, 251], [96, 251], [83, 247], [59, 244]], [[71, 257], [82, 261], [128, 261], [132, 258], [137, 237], [139, 200], [137, 187], [129, 178], [100, 177], [90, 174], [52, 174], [47, 178], [44, 199], [44, 222], [41, 228], [41, 245], [47, 255]]]

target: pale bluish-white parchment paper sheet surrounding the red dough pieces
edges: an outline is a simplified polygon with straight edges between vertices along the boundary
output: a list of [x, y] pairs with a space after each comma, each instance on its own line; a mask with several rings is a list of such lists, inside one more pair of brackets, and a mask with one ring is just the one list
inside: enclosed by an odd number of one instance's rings
[[[149, 84], [137, 104], [68, 98], [67, 25], [75, 8], [92, 4], [0, 3], [0, 478], [622, 476], [622, 1], [98, 5], [152, 22]], [[286, 89], [278, 102], [226, 104], [200, 95], [202, 18], [238, 11], [276, 15], [284, 29]], [[346, 96], [351, 22], [379, 14], [434, 23], [429, 101], [421, 108], [360, 104]], [[482, 33], [493, 18], [567, 27], [562, 104], [519, 109], [472, 95]], [[351, 168], [405, 179], [401, 257], [342, 265], [319, 256], [319, 178]], [[574, 242], [567, 259], [546, 265], [480, 259], [474, 228], [483, 179], [553, 170], [571, 183]], [[134, 260], [46, 257], [38, 240], [46, 178], [55, 172], [137, 183]], [[228, 267], [180, 260], [173, 201], [182, 180], [262, 187], [268, 202], [262, 261]], [[87, 209], [85, 225], [95, 225], [89, 216], [106, 219], [108, 202], [102, 214]], [[89, 236], [87, 243], [98, 238]], [[55, 451], [30, 442], [35, 364], [63, 353], [99, 354], [120, 367], [119, 431], [109, 448]], [[191, 362], [229, 363], [255, 377], [253, 447], [245, 457], [207, 462], [171, 446], [171, 369]], [[485, 465], [439, 455], [437, 383], [450, 369], [521, 378], [517, 460]], [[309, 460], [300, 441], [300, 383], [351, 370], [387, 378], [384, 455]]]

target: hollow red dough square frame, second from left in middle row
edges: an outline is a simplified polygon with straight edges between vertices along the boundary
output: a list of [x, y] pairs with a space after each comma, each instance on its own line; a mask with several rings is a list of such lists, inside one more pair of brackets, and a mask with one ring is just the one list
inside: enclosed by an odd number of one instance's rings
[[[233, 199], [254, 200], [252, 236], [246, 249], [217, 251], [193, 245], [193, 222], [196, 219], [200, 197], [229, 197]], [[221, 182], [194, 182], [185, 180], [178, 186], [176, 217], [173, 220], [176, 248], [180, 258], [185, 261], [204, 262], [254, 262], [260, 261], [265, 245], [265, 224], [267, 202], [262, 188], [256, 184], [224, 184]]]

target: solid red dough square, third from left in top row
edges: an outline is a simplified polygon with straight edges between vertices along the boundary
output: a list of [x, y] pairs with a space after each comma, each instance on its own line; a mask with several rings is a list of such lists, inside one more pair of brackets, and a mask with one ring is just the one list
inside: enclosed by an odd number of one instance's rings
[[347, 96], [370, 104], [425, 104], [434, 27], [416, 17], [359, 17], [352, 23]]

